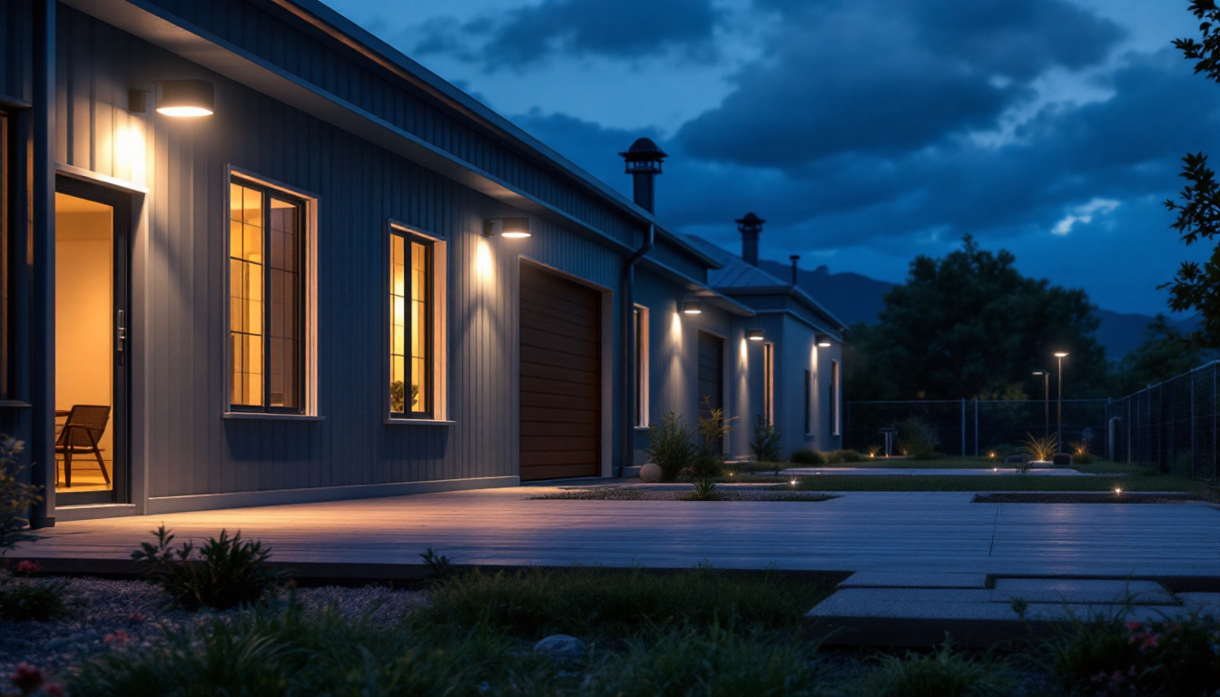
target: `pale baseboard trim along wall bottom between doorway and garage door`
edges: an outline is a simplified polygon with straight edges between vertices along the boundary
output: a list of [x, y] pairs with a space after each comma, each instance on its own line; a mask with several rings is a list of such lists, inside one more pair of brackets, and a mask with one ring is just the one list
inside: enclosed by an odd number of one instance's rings
[[353, 485], [320, 488], [290, 488], [250, 491], [234, 493], [205, 493], [194, 496], [166, 496], [149, 498], [148, 515], [183, 513], [188, 510], [215, 510], [220, 508], [254, 508], [284, 505], [290, 503], [317, 503], [359, 498], [384, 498], [416, 493], [439, 493], [475, 488], [515, 487], [521, 477], [479, 477], [471, 480], [432, 480], [422, 482], [394, 482], [383, 485]]

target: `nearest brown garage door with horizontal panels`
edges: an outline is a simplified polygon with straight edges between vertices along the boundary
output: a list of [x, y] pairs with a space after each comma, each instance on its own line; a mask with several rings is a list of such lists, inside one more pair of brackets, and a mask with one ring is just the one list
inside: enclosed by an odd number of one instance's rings
[[521, 480], [601, 474], [601, 297], [521, 265]]

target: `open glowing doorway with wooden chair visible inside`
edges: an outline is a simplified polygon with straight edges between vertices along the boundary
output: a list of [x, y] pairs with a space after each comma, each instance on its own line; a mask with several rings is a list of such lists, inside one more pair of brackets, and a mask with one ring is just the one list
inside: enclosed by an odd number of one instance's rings
[[126, 500], [126, 229], [107, 192], [55, 194], [55, 488], [60, 505]]

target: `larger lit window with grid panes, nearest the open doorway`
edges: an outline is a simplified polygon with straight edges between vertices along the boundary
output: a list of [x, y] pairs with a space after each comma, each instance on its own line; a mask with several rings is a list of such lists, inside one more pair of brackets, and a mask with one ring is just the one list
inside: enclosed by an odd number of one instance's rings
[[229, 403], [300, 413], [305, 381], [305, 205], [229, 186]]

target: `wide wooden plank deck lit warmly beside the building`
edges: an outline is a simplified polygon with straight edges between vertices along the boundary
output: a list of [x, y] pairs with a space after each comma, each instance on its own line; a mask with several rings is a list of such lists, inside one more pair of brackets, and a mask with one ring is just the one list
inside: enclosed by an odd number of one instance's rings
[[[240, 530], [278, 562], [412, 575], [456, 564], [1220, 579], [1220, 510], [1202, 504], [974, 504], [970, 493], [852, 492], [822, 503], [529, 500], [486, 489], [63, 522], [11, 558], [120, 568], [161, 522]], [[55, 568], [55, 564], [51, 565]], [[370, 570], [377, 570], [372, 572]]]

